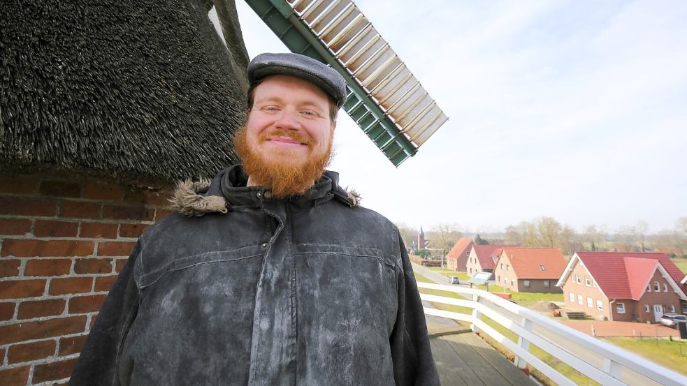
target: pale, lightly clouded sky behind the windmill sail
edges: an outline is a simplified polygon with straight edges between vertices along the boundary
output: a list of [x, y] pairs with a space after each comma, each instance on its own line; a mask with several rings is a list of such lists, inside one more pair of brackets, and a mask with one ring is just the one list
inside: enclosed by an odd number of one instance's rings
[[[354, 2], [449, 117], [396, 168], [340, 112], [329, 169], [364, 207], [466, 232], [687, 216], [686, 1]], [[251, 58], [288, 51], [236, 5]]]

